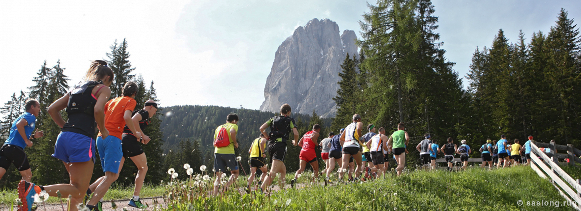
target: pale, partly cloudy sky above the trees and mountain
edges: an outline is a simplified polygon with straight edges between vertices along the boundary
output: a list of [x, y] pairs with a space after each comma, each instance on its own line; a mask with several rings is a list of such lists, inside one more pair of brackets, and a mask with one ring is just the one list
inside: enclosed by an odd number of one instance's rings
[[[463, 79], [476, 47], [492, 45], [498, 29], [509, 42], [522, 29], [529, 42], [533, 32], [549, 31], [561, 8], [581, 20], [575, 9], [581, 1], [433, 5], [442, 48]], [[358, 21], [368, 11], [359, 0], [0, 1], [0, 103], [34, 86], [45, 60], [48, 66], [60, 60], [69, 84], [76, 84], [89, 61], [106, 58], [114, 40], [127, 39], [134, 73], [155, 82], [162, 106], [259, 109], [275, 52], [295, 28], [329, 18], [360, 37]]]

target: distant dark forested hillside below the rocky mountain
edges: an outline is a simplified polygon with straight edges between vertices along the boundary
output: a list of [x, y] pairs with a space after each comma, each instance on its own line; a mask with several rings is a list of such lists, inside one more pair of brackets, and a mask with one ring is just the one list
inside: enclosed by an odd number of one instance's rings
[[[213, 166], [214, 130], [226, 123], [226, 116], [230, 113], [238, 114], [240, 119], [236, 136], [239, 147], [235, 150], [235, 154], [242, 157], [242, 164], [248, 169], [248, 149], [252, 141], [259, 137], [260, 125], [277, 115], [260, 110], [200, 105], [171, 106], [164, 108], [163, 112], [164, 116], [160, 117], [160, 120], [162, 120], [161, 129], [165, 140], [163, 150], [166, 153], [166, 167], [177, 168], [184, 163], [189, 163], [193, 169], [198, 169], [196, 167], [200, 164]], [[309, 131], [315, 123], [322, 124], [326, 128], [331, 125], [331, 119], [321, 120], [317, 114], [308, 116], [293, 113], [292, 117], [299, 127], [300, 135]], [[327, 134], [328, 131], [325, 130], [322, 133]], [[291, 159], [288, 163], [285, 160], [285, 164], [289, 170], [297, 169], [299, 151], [300, 147], [292, 147], [292, 144], [288, 143], [288, 156]], [[198, 158], [203, 160], [197, 160]], [[267, 157], [267, 159], [270, 158]]]

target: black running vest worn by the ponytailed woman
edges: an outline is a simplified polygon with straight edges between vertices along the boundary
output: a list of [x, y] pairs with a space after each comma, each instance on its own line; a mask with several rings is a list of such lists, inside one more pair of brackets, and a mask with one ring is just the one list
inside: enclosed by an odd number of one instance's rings
[[69, 119], [64, 123], [61, 131], [95, 137], [94, 110], [97, 98], [92, 95], [92, 91], [98, 84], [103, 84], [103, 82], [95, 82], [94, 80], [81, 82], [69, 92], [69, 102], [66, 108]]

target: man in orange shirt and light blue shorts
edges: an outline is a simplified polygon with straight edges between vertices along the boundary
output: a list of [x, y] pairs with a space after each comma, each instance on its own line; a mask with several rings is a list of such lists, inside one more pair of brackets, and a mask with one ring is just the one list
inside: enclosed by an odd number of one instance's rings
[[105, 176], [94, 183], [98, 185], [91, 201], [87, 203], [89, 210], [103, 210], [103, 196], [107, 193], [111, 184], [119, 177], [121, 158], [123, 158], [121, 135], [123, 135], [125, 125], [127, 125], [137, 140], [141, 140], [141, 132], [137, 131], [133, 121], [131, 121], [131, 113], [137, 104], [134, 99], [137, 91], [139, 91], [139, 87], [137, 87], [135, 82], [127, 82], [123, 86], [123, 97], [112, 99], [105, 104], [105, 128], [109, 131], [109, 136], [103, 139], [99, 132], [96, 140], [97, 151], [99, 152], [99, 158], [101, 158]]

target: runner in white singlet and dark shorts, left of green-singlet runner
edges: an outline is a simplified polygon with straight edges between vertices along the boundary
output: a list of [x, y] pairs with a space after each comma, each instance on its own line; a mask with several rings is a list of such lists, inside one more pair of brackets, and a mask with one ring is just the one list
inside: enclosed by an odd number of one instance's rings
[[383, 150], [388, 150], [388, 136], [385, 135], [385, 128], [379, 128], [379, 134], [371, 137], [371, 140], [366, 145], [370, 149], [371, 162], [374, 165], [371, 168], [372, 177], [376, 179], [385, 172], [385, 165], [383, 165], [385, 163], [385, 154], [383, 154]]

